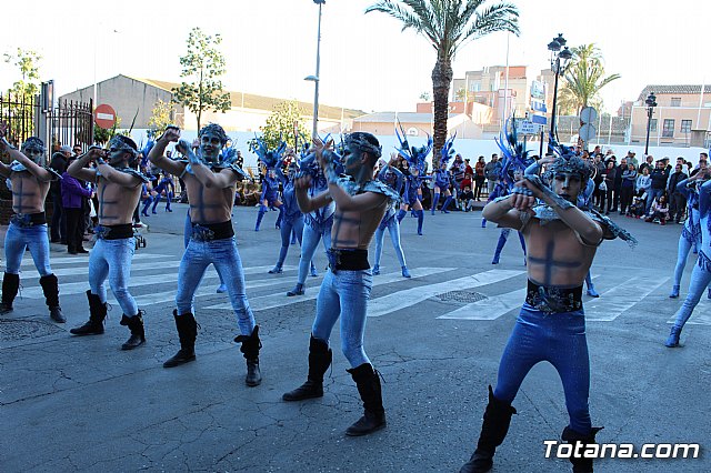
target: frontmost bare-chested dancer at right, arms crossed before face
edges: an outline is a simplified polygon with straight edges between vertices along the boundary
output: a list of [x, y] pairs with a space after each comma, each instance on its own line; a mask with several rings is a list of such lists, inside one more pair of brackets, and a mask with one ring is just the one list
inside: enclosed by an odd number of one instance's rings
[[[572, 445], [574, 472], [592, 472], [592, 459], [583, 452], [594, 443], [590, 420], [590, 362], [582, 306], [582, 284], [603, 239], [635, 240], [594, 210], [577, 207], [587, 185], [589, 167], [569, 149], [547, 173], [552, 189], [538, 175], [525, 175], [508, 197], [487, 204], [484, 217], [523, 233], [528, 255], [525, 303], [503, 351], [495, 389], [489, 386], [489, 404], [477, 450], [460, 472], [487, 472], [517, 411], [511, 405], [531, 368], [548, 361], [558, 371], [565, 393], [570, 423], [562, 439]], [[542, 201], [537, 204], [537, 199]]]

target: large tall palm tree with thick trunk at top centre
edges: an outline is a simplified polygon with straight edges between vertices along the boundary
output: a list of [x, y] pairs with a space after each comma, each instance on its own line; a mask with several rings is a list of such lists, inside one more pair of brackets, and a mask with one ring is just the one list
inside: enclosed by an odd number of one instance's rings
[[495, 31], [519, 33], [519, 11], [510, 3], [483, 7], [485, 0], [381, 0], [365, 9], [380, 11], [402, 22], [402, 30], [414, 29], [437, 51], [432, 69], [434, 97], [434, 154], [447, 141], [449, 89], [452, 83], [452, 60], [468, 41]]

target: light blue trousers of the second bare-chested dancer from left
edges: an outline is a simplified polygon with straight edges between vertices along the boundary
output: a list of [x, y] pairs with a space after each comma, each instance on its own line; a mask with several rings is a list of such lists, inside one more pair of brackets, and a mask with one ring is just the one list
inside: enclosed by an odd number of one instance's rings
[[131, 260], [134, 251], [136, 240], [133, 238], [119, 240], [99, 238], [89, 255], [89, 286], [91, 288], [91, 293], [97, 294], [102, 303], [106, 302], [107, 290], [103, 282], [109, 278], [111, 292], [113, 292], [113, 296], [127, 316], [138, 314], [138, 305], [129, 292]]

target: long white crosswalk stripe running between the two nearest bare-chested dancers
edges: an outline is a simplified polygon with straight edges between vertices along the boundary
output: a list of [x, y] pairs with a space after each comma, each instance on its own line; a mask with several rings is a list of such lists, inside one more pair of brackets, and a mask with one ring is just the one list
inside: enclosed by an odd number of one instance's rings
[[368, 316], [385, 315], [405, 308], [410, 308], [419, 302], [449, 291], [458, 291], [489, 285], [524, 273], [525, 271], [490, 270], [451, 281], [440, 282], [437, 284], [398, 291], [395, 293], [370, 301], [368, 305]]

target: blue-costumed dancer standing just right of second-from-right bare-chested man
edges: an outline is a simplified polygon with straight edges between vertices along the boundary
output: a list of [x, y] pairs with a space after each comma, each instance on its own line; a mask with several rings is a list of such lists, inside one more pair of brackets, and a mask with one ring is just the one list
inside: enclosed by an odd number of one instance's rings
[[[385, 163], [384, 160], [380, 160], [382, 163], [382, 169], [378, 172], [378, 180], [384, 182], [395, 191], [398, 195], [402, 191], [403, 185], [403, 174], [400, 172], [398, 168], [394, 167], [397, 160], [397, 154], [390, 159], [389, 163]], [[408, 265], [404, 261], [404, 253], [402, 251], [402, 244], [400, 242], [400, 222], [395, 219], [395, 204], [397, 200], [391, 200], [390, 205], [385, 210], [385, 214], [383, 215], [380, 224], [378, 225], [378, 230], [375, 230], [375, 264], [373, 265], [373, 275], [380, 274], [380, 256], [382, 255], [382, 243], [385, 238], [385, 229], [388, 229], [388, 233], [390, 233], [390, 241], [392, 241], [392, 246], [395, 250], [395, 255], [398, 256], [398, 261], [400, 261], [400, 268], [402, 270], [403, 278], [411, 278], [410, 270], [408, 270]]]

